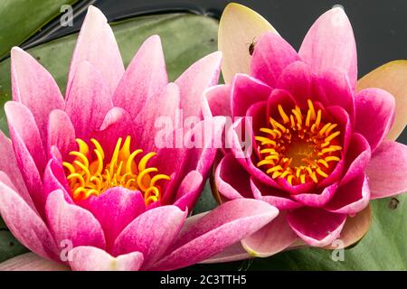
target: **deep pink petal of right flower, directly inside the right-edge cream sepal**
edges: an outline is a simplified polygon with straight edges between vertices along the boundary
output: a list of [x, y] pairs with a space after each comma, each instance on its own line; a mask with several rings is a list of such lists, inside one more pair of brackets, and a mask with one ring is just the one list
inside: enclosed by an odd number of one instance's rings
[[364, 135], [374, 152], [393, 125], [394, 98], [382, 89], [364, 89], [356, 94], [355, 107], [355, 132]]

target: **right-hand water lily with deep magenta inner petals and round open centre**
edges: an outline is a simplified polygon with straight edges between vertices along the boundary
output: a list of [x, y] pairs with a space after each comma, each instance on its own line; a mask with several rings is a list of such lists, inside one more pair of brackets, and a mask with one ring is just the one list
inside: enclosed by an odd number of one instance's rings
[[[355, 37], [343, 9], [320, 16], [299, 51], [271, 29], [233, 43], [227, 33], [244, 32], [232, 23], [253, 27], [248, 23], [262, 21], [245, 10], [229, 5], [222, 16], [219, 42], [225, 56], [229, 51], [227, 83], [206, 91], [204, 114], [238, 117], [226, 132], [231, 147], [216, 162], [217, 198], [264, 200], [280, 210], [277, 219], [242, 240], [252, 256], [301, 243], [327, 247], [336, 238], [354, 243], [368, 227], [369, 200], [407, 190], [407, 146], [385, 140], [394, 120], [393, 95], [365, 85], [355, 89]], [[254, 36], [259, 38], [251, 56], [241, 42]], [[240, 61], [241, 53], [251, 58], [250, 68], [232, 62]], [[398, 116], [396, 135], [405, 122], [405, 115]], [[251, 136], [245, 143], [252, 154], [242, 150], [241, 126]], [[353, 228], [344, 229], [345, 223]], [[247, 257], [229, 250], [217, 260]]]

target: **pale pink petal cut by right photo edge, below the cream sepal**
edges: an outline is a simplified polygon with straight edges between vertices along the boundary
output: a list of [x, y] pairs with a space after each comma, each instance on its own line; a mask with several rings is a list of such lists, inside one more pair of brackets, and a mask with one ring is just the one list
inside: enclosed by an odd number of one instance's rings
[[366, 168], [372, 199], [407, 191], [407, 145], [383, 141]]

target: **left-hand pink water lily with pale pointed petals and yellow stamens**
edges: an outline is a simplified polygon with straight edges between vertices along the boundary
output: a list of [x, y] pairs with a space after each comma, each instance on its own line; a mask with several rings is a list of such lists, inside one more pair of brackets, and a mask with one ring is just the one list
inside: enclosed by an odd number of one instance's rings
[[[73, 270], [175, 269], [221, 252], [278, 214], [265, 202], [236, 200], [187, 218], [216, 149], [156, 146], [157, 117], [174, 119], [177, 109], [201, 115], [203, 91], [219, 77], [219, 52], [168, 83], [160, 39], [152, 36], [124, 70], [107, 19], [90, 6], [65, 98], [29, 54], [14, 48], [11, 58], [0, 212], [36, 255]], [[223, 123], [204, 119], [185, 135], [204, 126], [217, 135]], [[27, 258], [28, 265], [16, 257], [0, 267], [55, 266]]]

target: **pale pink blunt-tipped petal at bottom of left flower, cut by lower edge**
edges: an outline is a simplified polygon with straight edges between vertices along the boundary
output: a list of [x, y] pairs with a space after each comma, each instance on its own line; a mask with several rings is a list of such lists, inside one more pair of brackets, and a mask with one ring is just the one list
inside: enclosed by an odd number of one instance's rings
[[114, 257], [98, 247], [74, 247], [70, 253], [74, 271], [137, 271], [144, 261], [140, 252]]

